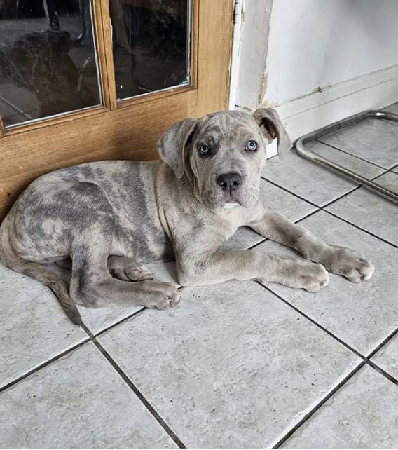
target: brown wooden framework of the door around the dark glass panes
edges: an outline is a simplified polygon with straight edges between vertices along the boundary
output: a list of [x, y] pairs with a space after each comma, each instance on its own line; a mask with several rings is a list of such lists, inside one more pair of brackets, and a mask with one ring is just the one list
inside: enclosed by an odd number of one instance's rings
[[[27, 184], [43, 173], [101, 159], [156, 159], [156, 142], [172, 123], [226, 109], [233, 4], [193, 0], [189, 86], [117, 102], [108, 1], [92, 0], [103, 105], [9, 130], [0, 120], [0, 219]], [[165, 114], [154, 116], [154, 104]]]

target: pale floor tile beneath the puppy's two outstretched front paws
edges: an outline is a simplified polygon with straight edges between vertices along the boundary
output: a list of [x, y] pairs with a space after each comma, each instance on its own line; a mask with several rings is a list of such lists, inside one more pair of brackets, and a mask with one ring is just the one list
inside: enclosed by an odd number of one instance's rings
[[[300, 224], [327, 243], [351, 247], [368, 257], [376, 267], [373, 278], [352, 283], [331, 274], [329, 285], [316, 293], [276, 283], [267, 285], [352, 348], [368, 355], [397, 327], [398, 249], [327, 212], [316, 212]], [[272, 241], [256, 250], [283, 258], [300, 258], [293, 250]]]

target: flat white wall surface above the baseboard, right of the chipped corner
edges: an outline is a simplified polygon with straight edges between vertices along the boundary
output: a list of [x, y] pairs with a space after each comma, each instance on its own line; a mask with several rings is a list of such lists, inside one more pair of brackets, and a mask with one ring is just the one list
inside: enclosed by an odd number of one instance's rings
[[397, 0], [274, 0], [261, 99], [278, 104], [398, 62]]

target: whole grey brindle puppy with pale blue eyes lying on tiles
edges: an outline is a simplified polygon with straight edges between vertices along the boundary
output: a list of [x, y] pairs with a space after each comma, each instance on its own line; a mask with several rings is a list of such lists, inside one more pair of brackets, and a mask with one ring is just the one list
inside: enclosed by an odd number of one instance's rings
[[[329, 282], [327, 270], [369, 280], [367, 259], [259, 200], [266, 145], [275, 138], [286, 153], [291, 142], [273, 109], [223, 111], [173, 125], [158, 142], [163, 161], [102, 161], [43, 175], [1, 224], [0, 259], [52, 289], [76, 324], [76, 304], [178, 304], [177, 289], [152, 281], [143, 262], [175, 259], [184, 286], [256, 279], [317, 292]], [[309, 261], [224, 250], [240, 226]], [[51, 261], [71, 265], [69, 289], [46, 268]]]

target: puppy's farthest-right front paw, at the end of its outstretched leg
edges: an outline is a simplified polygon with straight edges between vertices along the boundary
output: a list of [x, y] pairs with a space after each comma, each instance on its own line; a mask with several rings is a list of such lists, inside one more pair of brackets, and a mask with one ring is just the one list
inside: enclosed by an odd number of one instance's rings
[[357, 252], [346, 247], [331, 247], [330, 252], [325, 265], [331, 272], [343, 275], [352, 282], [369, 280], [372, 277], [373, 264]]

